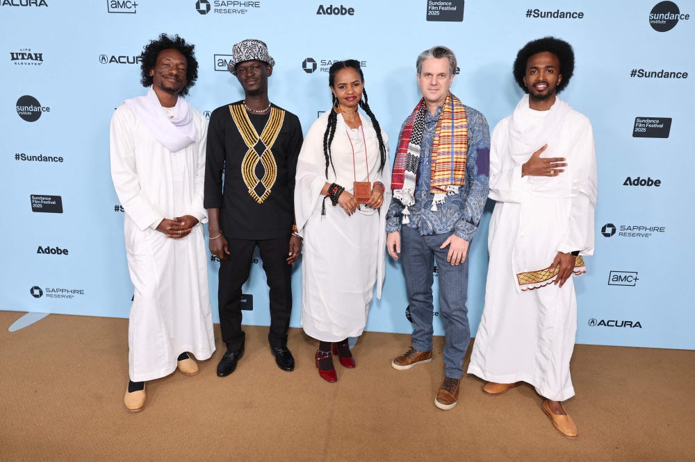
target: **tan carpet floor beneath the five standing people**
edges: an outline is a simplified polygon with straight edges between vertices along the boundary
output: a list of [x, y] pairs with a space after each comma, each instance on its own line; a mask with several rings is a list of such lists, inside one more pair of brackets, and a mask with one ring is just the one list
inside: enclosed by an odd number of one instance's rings
[[[464, 375], [457, 407], [440, 411], [443, 338], [434, 361], [398, 371], [402, 334], [365, 333], [357, 368], [318, 377], [316, 342], [290, 332], [297, 367], [275, 366], [267, 328], [246, 326], [245, 357], [215, 375], [147, 384], [124, 410], [128, 321], [51, 315], [17, 332], [0, 311], [0, 461], [693, 461], [695, 352], [577, 345], [577, 395], [565, 408], [580, 437], [559, 436], [528, 385], [500, 397]], [[469, 350], [470, 354], [470, 350]], [[466, 357], [466, 365], [468, 357]]]

